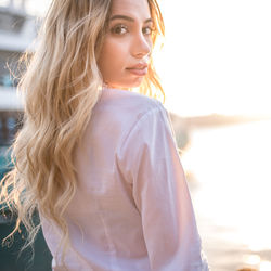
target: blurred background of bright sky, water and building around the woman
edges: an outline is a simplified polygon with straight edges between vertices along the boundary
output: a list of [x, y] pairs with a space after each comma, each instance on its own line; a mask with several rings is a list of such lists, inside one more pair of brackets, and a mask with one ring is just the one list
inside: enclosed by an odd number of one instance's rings
[[[163, 50], [155, 52], [156, 66], [211, 270], [270, 271], [271, 2], [158, 2], [166, 38]], [[49, 3], [0, 0], [2, 175], [22, 117], [16, 76], [10, 70], [16, 72], [26, 49], [35, 51], [34, 39]], [[1, 218], [0, 237], [9, 227]], [[50, 270], [42, 263], [50, 261], [42, 235], [37, 246], [41, 259], [33, 270]], [[11, 257], [8, 253], [0, 248], [1, 262]], [[7, 270], [23, 270], [16, 268]]]

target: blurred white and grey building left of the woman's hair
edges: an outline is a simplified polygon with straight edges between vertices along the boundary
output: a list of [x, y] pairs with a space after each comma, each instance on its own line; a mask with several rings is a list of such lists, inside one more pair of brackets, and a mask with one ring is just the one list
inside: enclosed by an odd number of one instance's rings
[[9, 0], [0, 7], [0, 145], [10, 143], [22, 115], [16, 94], [18, 60], [26, 49], [35, 48], [36, 18], [27, 14], [25, 4], [25, 0]]

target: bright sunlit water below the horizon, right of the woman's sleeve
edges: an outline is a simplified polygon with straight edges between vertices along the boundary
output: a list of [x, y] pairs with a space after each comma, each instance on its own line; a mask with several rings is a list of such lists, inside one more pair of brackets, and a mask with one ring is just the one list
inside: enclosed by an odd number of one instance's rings
[[182, 156], [214, 271], [271, 270], [271, 121], [192, 132]]

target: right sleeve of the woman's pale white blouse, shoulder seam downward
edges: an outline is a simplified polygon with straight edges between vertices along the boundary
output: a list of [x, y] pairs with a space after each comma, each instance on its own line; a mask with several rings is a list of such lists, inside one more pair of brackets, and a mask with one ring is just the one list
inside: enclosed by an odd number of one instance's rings
[[171, 122], [163, 105], [133, 126], [121, 145], [119, 162], [132, 184], [152, 270], [208, 270]]

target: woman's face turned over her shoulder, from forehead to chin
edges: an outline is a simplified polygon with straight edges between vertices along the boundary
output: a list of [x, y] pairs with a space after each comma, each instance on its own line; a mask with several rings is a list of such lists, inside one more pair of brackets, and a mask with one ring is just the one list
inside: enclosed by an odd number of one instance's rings
[[98, 61], [104, 83], [120, 89], [140, 86], [147, 73], [152, 29], [147, 0], [113, 0]]

